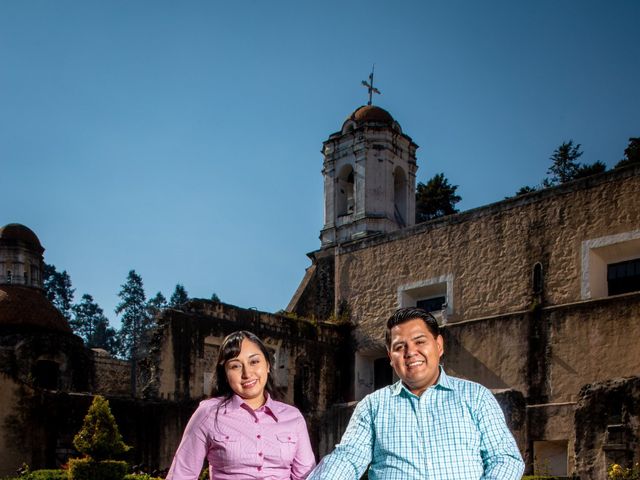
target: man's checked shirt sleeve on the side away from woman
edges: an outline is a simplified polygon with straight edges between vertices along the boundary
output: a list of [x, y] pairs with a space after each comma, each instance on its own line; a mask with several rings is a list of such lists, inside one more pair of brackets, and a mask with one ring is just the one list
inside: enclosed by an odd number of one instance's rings
[[480, 430], [482, 480], [520, 480], [524, 462], [493, 394], [483, 389], [476, 421]]

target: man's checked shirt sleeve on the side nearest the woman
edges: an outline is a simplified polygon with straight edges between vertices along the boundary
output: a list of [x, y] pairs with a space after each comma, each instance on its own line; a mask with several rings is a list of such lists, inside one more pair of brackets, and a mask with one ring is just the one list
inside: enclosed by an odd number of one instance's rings
[[359, 480], [373, 458], [374, 426], [369, 397], [356, 406], [340, 443], [325, 456], [308, 480]]

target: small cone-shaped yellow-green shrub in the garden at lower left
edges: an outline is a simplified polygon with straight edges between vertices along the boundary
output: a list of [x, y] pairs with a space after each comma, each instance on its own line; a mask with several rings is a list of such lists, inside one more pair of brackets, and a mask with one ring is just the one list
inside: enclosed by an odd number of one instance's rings
[[82, 429], [73, 438], [73, 445], [92, 460], [118, 458], [131, 448], [122, 441], [109, 402], [100, 395], [93, 399]]

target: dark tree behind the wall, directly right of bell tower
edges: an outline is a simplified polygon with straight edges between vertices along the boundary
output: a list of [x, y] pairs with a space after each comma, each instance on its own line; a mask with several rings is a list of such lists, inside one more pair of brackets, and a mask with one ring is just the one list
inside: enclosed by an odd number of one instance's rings
[[437, 173], [426, 184], [418, 183], [416, 223], [456, 213], [455, 204], [462, 200], [456, 195], [457, 188], [457, 185], [449, 184], [444, 173]]

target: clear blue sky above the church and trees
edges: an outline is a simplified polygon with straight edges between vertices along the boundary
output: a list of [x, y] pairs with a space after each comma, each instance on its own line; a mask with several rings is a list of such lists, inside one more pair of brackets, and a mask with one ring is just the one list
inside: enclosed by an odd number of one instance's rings
[[322, 141], [366, 103], [462, 210], [540, 182], [563, 141], [640, 136], [640, 2], [0, 2], [0, 224], [112, 323], [148, 296], [286, 307], [319, 248]]

